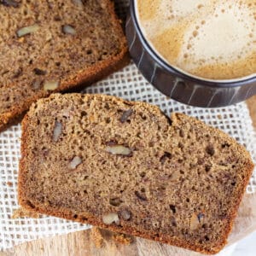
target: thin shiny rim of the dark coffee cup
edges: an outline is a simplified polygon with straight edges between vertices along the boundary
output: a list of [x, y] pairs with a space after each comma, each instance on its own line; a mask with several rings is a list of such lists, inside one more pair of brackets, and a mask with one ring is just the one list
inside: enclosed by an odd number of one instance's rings
[[144, 49], [147, 49], [148, 53], [154, 58], [154, 61], [156, 61], [160, 67], [164, 67], [168, 72], [171, 72], [172, 74], [176, 75], [180, 79], [186, 79], [189, 80], [192, 83], [196, 84], [204, 84], [210, 87], [238, 87], [246, 84], [252, 84], [256, 83], [256, 75], [245, 78], [245, 79], [239, 79], [232, 81], [231, 79], [225, 80], [208, 80], [203, 78], [196, 78], [194, 76], [190, 76], [189, 73], [183, 73], [182, 70], [179, 70], [175, 67], [172, 67], [168, 62], [166, 62], [163, 58], [160, 57], [160, 55], [151, 47], [150, 44], [148, 44], [147, 39], [144, 37], [141, 27], [139, 26], [139, 22], [137, 20], [137, 11], [136, 11], [136, 2], [137, 0], [131, 0], [130, 2], [130, 9], [131, 9], [131, 19], [133, 20], [133, 24], [137, 31], [137, 36], [140, 38]]

